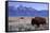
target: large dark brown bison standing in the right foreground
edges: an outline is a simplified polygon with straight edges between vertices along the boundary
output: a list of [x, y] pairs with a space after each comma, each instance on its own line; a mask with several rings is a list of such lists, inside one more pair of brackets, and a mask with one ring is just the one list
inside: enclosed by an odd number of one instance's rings
[[32, 24], [36, 24], [37, 27], [39, 27], [40, 24], [46, 24], [46, 18], [42, 17], [35, 17], [32, 19]]

